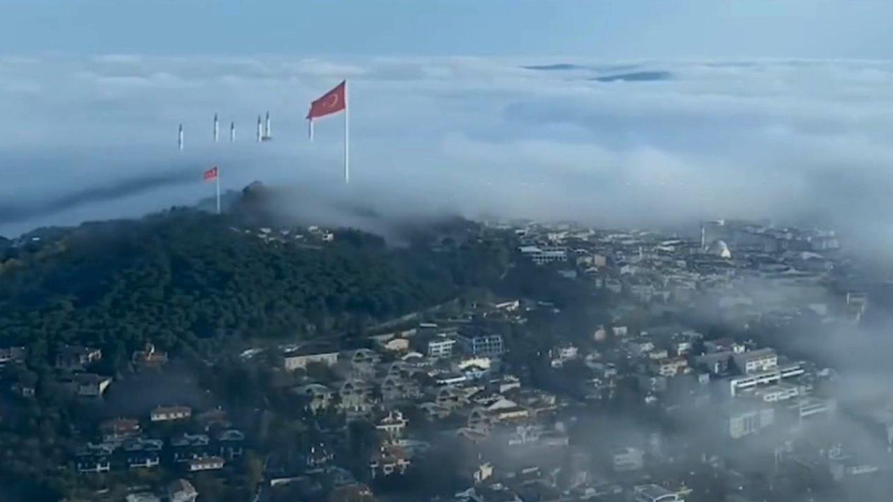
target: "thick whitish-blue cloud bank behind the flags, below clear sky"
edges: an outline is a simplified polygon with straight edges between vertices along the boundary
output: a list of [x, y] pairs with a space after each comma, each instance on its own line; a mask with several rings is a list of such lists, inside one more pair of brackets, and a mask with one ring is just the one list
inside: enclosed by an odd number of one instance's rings
[[[6, 207], [61, 197], [80, 216], [114, 216], [112, 200], [92, 215], [94, 201], [76, 195], [212, 163], [230, 188], [260, 179], [324, 191], [338, 183], [341, 120], [318, 122], [311, 144], [303, 117], [348, 77], [356, 189], [396, 201], [604, 224], [822, 214], [869, 234], [893, 209], [883, 112], [893, 63], [48, 55], [0, 58], [0, 68]], [[593, 80], [616, 74], [672, 79]], [[259, 146], [267, 110], [275, 140]], [[213, 113], [223, 130], [236, 123], [236, 144], [213, 145]], [[139, 207], [200, 190], [147, 188]], [[127, 197], [118, 202], [130, 214]], [[0, 233], [76, 222], [62, 213], [7, 218]]]

